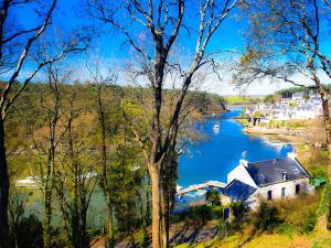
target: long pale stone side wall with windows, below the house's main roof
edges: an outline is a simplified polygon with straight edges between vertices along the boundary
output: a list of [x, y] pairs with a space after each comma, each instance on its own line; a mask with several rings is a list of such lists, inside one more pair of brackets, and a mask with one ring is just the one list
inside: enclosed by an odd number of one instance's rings
[[273, 200], [281, 198], [281, 188], [285, 187], [285, 197], [295, 197], [296, 185], [300, 184], [300, 193], [308, 192], [309, 179], [299, 179], [295, 181], [286, 181], [282, 183], [271, 184], [257, 188], [246, 201], [247, 205], [254, 209], [259, 206], [260, 201], [268, 198], [268, 191], [273, 192]]

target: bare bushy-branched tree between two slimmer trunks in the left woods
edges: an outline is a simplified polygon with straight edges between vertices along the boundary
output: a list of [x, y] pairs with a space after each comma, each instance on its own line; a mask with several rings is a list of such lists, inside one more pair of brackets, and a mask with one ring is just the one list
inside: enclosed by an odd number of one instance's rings
[[[70, 94], [70, 104], [64, 114], [65, 133], [61, 138], [61, 169], [56, 170], [56, 192], [64, 217], [67, 239], [75, 248], [88, 248], [87, 212], [97, 184], [98, 158], [90, 138], [98, 127], [82, 120], [84, 107], [77, 106], [77, 97]], [[68, 194], [70, 192], [70, 194]]]

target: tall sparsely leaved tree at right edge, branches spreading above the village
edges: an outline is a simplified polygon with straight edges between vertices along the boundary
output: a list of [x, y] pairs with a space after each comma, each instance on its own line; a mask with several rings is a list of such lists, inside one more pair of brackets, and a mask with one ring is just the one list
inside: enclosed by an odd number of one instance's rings
[[[234, 80], [249, 84], [256, 79], [270, 78], [311, 88], [322, 100], [325, 143], [329, 151], [329, 179], [331, 179], [331, 125], [327, 82], [331, 79], [330, 58], [323, 53], [323, 41], [328, 32], [331, 11], [327, 1], [248, 1], [250, 29], [247, 35], [247, 50], [241, 57]], [[312, 86], [301, 83], [306, 78]], [[327, 77], [327, 78], [328, 78]]]

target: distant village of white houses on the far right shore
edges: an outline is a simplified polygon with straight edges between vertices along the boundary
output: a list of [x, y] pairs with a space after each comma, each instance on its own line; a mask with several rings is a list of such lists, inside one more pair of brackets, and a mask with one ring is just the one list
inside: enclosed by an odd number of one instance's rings
[[289, 98], [281, 98], [274, 104], [259, 104], [245, 109], [245, 116], [270, 120], [307, 120], [322, 116], [322, 100], [314, 91], [309, 94], [293, 93]]

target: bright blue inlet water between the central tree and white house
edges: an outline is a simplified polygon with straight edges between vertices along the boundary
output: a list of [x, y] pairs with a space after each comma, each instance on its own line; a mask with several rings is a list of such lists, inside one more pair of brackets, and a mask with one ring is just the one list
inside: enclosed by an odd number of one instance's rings
[[[223, 117], [235, 117], [241, 109], [222, 114]], [[213, 130], [220, 123], [220, 131]], [[226, 183], [226, 175], [241, 159], [258, 161], [282, 158], [288, 149], [277, 149], [264, 142], [261, 138], [243, 132], [243, 126], [233, 119], [220, 119], [220, 116], [207, 118], [194, 127], [199, 132], [206, 133], [209, 139], [190, 143], [179, 159], [178, 185], [189, 186], [207, 180]]]

